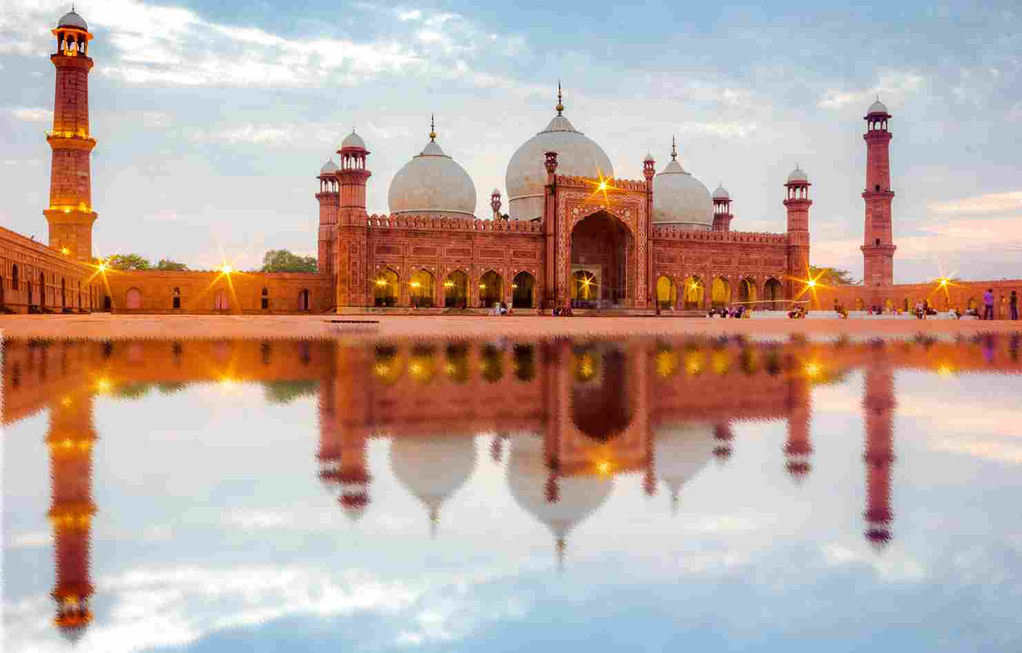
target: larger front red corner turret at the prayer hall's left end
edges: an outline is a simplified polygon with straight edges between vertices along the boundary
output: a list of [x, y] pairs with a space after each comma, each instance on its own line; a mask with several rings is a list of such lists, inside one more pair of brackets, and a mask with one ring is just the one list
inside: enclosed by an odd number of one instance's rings
[[340, 169], [335, 173], [339, 186], [336, 245], [334, 257], [337, 272], [337, 310], [342, 306], [366, 306], [369, 303], [366, 242], [366, 181], [372, 172], [366, 167], [369, 150], [362, 137], [352, 130], [337, 150]]

